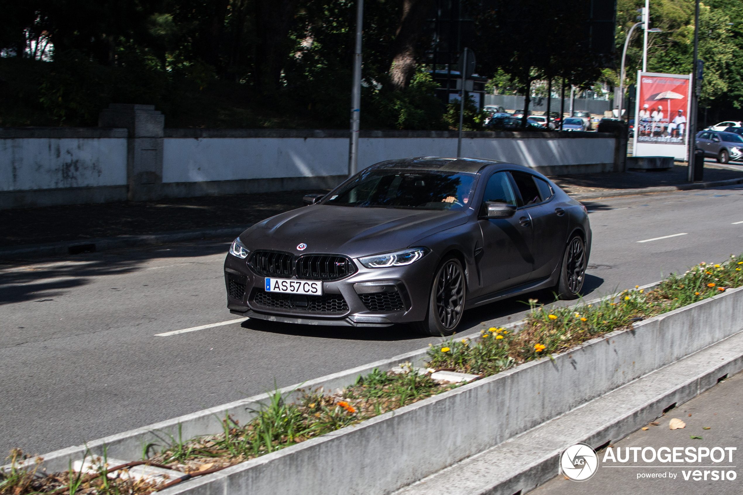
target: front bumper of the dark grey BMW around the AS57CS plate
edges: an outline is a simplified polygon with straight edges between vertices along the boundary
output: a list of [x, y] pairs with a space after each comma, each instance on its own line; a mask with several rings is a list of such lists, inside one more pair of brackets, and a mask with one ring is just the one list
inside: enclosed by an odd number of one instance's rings
[[[426, 317], [438, 257], [429, 252], [408, 266], [369, 269], [322, 282], [322, 296], [265, 292], [265, 278], [247, 261], [227, 255], [224, 282], [227, 308], [235, 315], [268, 321], [342, 327], [389, 327]], [[293, 279], [300, 279], [296, 276]]]

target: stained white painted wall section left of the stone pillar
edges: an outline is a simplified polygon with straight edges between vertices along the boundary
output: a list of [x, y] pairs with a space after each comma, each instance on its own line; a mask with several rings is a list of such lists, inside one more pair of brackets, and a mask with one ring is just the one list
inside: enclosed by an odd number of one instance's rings
[[0, 140], [0, 191], [126, 185], [126, 139]]

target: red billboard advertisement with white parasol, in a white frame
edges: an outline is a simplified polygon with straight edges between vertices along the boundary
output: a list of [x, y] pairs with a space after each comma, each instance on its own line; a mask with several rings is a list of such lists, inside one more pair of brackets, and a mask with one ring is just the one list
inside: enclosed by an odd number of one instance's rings
[[635, 157], [687, 160], [690, 75], [637, 71]]

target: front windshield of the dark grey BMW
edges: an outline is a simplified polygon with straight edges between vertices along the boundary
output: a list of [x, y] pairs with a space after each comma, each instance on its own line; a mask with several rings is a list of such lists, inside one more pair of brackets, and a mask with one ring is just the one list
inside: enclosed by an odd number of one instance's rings
[[476, 174], [375, 168], [335, 191], [322, 204], [360, 208], [449, 210], [467, 207]]

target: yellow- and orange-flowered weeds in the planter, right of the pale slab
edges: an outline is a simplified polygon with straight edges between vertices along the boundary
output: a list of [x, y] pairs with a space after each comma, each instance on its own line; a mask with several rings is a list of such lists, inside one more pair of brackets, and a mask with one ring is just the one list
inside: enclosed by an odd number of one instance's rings
[[743, 255], [724, 263], [699, 263], [682, 275], [672, 274], [658, 287], [636, 287], [614, 298], [572, 307], [536, 307], [519, 332], [482, 330], [476, 344], [448, 339], [429, 350], [429, 366], [452, 367], [490, 376], [516, 364], [559, 353], [614, 330], [721, 294], [743, 285]]

